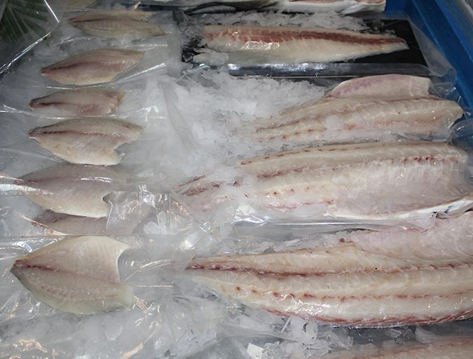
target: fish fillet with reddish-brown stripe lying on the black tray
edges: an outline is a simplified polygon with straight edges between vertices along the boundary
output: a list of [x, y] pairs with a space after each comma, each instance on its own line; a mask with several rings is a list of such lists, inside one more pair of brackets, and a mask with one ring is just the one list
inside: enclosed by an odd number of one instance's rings
[[285, 62], [344, 61], [408, 48], [394, 35], [323, 27], [207, 25], [203, 39], [208, 48], [219, 52], [266, 54]]

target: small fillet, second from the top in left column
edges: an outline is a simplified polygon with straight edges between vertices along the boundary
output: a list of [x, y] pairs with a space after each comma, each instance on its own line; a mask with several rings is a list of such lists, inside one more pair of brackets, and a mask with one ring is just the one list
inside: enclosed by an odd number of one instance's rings
[[102, 48], [68, 57], [41, 69], [41, 74], [65, 85], [95, 85], [116, 77], [143, 60], [145, 51]]

